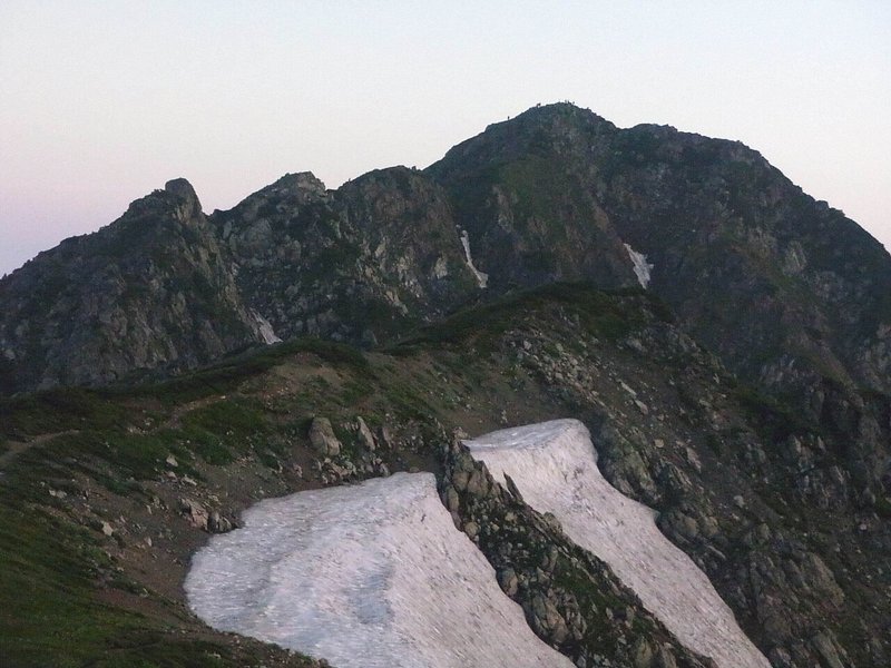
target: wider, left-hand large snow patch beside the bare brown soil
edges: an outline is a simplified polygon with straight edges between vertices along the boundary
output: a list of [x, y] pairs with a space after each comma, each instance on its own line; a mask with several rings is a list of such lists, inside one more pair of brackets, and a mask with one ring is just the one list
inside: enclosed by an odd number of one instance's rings
[[571, 667], [454, 528], [429, 473], [263, 501], [193, 560], [210, 626], [339, 668]]

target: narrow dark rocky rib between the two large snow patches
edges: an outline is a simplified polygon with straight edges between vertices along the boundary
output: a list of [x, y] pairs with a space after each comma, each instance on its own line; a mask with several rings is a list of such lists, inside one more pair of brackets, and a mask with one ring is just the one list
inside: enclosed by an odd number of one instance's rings
[[454, 439], [443, 445], [442, 502], [496, 569], [529, 626], [579, 667], [706, 667], [643, 608], [599, 559], [572, 543], [549, 514], [523, 503], [508, 479]]

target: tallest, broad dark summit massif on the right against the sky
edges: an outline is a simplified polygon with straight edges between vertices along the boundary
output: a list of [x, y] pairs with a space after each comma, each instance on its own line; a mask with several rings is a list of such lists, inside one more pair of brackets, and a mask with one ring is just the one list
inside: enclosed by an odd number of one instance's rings
[[549, 105], [427, 173], [492, 285], [629, 285], [623, 242], [652, 265], [647, 288], [733, 371], [777, 391], [822, 377], [891, 391], [891, 257], [737, 141]]

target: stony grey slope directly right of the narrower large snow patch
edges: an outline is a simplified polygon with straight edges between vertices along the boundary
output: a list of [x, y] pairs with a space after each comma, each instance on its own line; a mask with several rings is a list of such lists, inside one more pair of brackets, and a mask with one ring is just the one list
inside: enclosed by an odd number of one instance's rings
[[[881, 664], [884, 593], [862, 584], [889, 572], [882, 502], [869, 491], [885, 488], [865, 482], [871, 469], [844, 432], [741, 386], [643, 305], [636, 326], [610, 335], [580, 326], [579, 310], [527, 316], [505, 333], [500, 354], [586, 416], [605, 478], [659, 511], [663, 533], [708, 574], [774, 666], [850, 665], [832, 630], [840, 618], [862, 619], [854, 642]], [[850, 420], [844, 405], [839, 415]], [[881, 453], [887, 436], [875, 433]]]

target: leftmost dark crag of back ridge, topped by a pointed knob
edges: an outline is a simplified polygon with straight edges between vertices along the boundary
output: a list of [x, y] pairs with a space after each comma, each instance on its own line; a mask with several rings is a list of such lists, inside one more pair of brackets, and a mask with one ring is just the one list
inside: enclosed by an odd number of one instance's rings
[[38, 255], [0, 282], [0, 386], [12, 390], [193, 367], [260, 340], [184, 179]]

